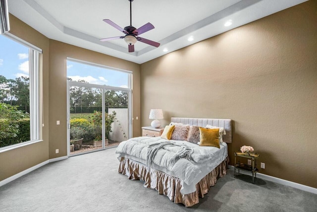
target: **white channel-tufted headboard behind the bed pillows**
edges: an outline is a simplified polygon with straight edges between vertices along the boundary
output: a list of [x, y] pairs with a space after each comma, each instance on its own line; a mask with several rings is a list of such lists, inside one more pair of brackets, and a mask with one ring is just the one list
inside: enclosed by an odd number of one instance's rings
[[196, 125], [199, 127], [206, 127], [206, 125], [223, 127], [226, 131], [226, 135], [222, 136], [223, 141], [226, 143], [232, 143], [231, 119], [199, 119], [172, 117], [171, 122], [182, 123], [185, 125]]

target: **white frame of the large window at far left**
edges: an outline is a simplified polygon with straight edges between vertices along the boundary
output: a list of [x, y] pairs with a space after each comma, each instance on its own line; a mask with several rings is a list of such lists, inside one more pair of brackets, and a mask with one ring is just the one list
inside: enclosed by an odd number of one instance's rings
[[[0, 147], [0, 153], [9, 151], [15, 148], [20, 148], [33, 143], [41, 142], [41, 132], [42, 128], [40, 117], [42, 117], [43, 108], [43, 98], [40, 98], [40, 54], [42, 54], [42, 49], [30, 44], [21, 38], [6, 32], [2, 34], [6, 38], [9, 38], [27, 48], [29, 48], [29, 79], [30, 79], [30, 141], [24, 141], [21, 143], [16, 143], [8, 146]], [[40, 107], [41, 105], [41, 107]]]

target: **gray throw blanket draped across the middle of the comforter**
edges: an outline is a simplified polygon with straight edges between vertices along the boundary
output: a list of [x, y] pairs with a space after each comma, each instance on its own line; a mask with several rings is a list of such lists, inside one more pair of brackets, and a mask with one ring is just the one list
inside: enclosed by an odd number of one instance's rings
[[173, 146], [173, 145], [177, 145], [177, 146], [180, 146], [183, 148], [181, 151], [178, 151], [175, 153], [175, 158], [173, 158], [174, 161], [172, 161], [172, 162], [176, 162], [180, 158], [185, 158], [185, 159], [191, 160], [191, 155], [193, 153], [193, 149], [189, 148], [186, 145], [175, 144], [175, 143], [171, 143], [169, 141], [159, 142], [159, 143], [151, 143], [148, 146], [148, 152], [147, 152], [147, 169], [150, 170], [150, 166], [152, 164], [153, 158], [158, 153], [159, 149], [163, 148], [164, 146]]

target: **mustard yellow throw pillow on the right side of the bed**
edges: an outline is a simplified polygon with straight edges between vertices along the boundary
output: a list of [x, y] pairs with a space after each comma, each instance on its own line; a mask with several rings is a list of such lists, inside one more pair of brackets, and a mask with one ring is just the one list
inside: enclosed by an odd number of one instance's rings
[[214, 146], [220, 148], [219, 129], [199, 128], [200, 146]]

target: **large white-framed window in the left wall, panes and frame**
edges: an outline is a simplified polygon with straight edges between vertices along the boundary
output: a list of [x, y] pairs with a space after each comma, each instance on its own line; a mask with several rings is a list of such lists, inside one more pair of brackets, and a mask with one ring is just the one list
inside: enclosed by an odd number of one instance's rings
[[39, 60], [42, 50], [0, 35], [0, 152], [40, 141]]

